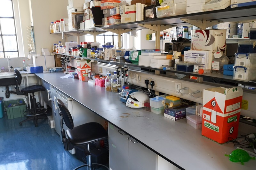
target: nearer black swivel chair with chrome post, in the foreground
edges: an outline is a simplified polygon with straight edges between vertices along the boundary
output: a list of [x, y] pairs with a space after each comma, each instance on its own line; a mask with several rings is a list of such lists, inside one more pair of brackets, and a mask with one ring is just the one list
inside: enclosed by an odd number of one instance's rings
[[[88, 166], [88, 170], [93, 169], [92, 165], [96, 165], [97, 167], [103, 166], [109, 170], [109, 168], [102, 164], [96, 164], [91, 162], [91, 153], [89, 144], [97, 142], [102, 139], [108, 138], [107, 131], [101, 126], [100, 123], [97, 122], [89, 122], [79, 126], [74, 127], [73, 118], [68, 111], [68, 108], [64, 105], [61, 100], [57, 100], [58, 106], [60, 108], [60, 124], [61, 124], [61, 137], [62, 142], [64, 144], [65, 151], [70, 151], [74, 147], [83, 149], [87, 164], [76, 167], [74, 170], [79, 169], [84, 166]], [[66, 138], [65, 130], [63, 129], [63, 120], [66, 126], [69, 128], [66, 130], [68, 138]]]

